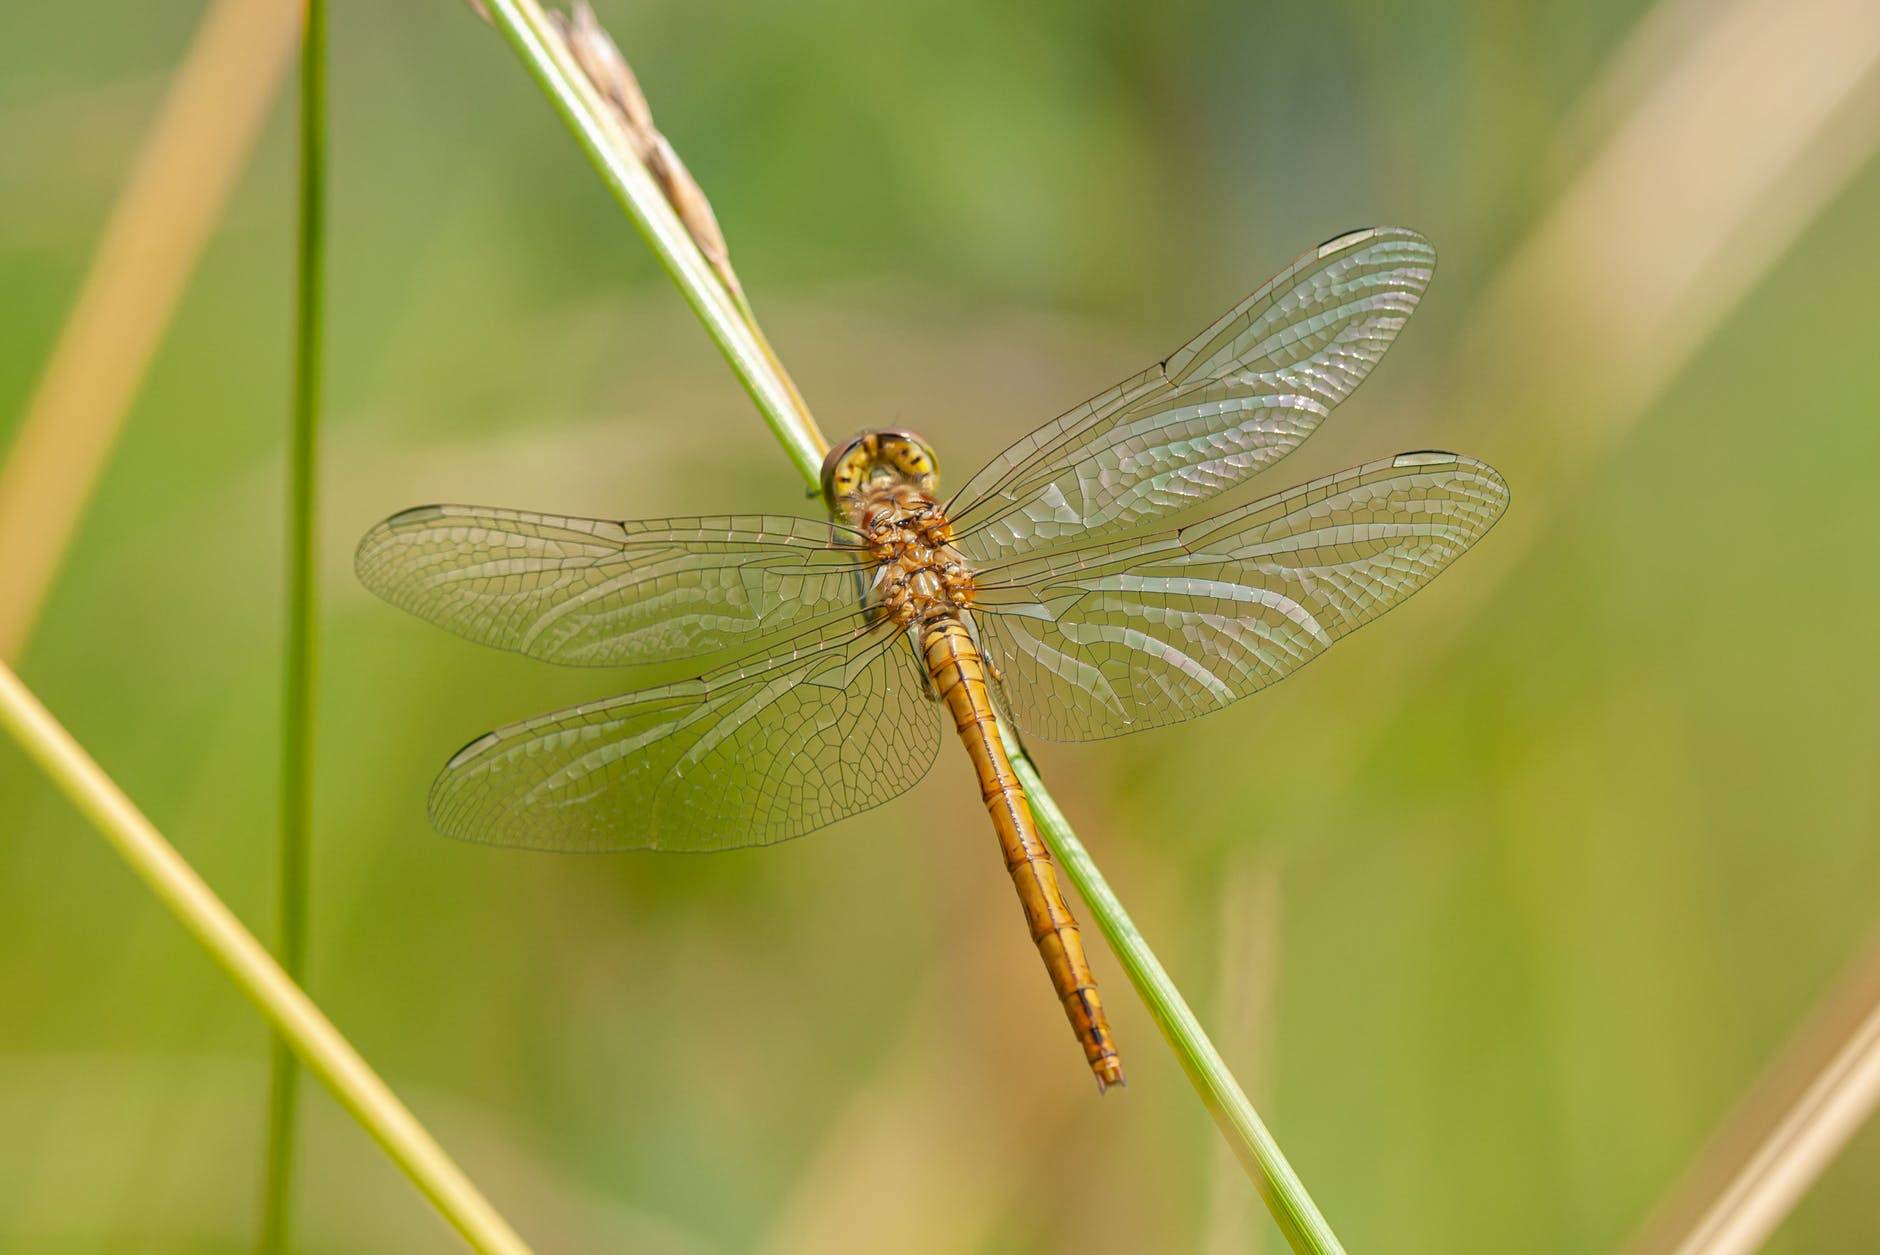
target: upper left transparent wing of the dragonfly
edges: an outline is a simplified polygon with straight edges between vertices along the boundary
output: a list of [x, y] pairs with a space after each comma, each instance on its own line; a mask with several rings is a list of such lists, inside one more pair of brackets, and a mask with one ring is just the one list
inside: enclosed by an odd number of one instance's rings
[[854, 532], [786, 515], [609, 522], [419, 505], [367, 532], [359, 582], [451, 631], [532, 658], [724, 663], [818, 624], [859, 624]]

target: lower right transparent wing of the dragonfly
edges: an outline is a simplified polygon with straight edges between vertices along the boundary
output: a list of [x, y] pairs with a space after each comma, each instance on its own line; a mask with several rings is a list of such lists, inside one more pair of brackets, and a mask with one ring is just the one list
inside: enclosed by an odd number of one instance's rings
[[1506, 505], [1493, 468], [1404, 453], [1179, 532], [995, 566], [974, 622], [1023, 731], [1117, 736], [1284, 680], [1434, 579]]

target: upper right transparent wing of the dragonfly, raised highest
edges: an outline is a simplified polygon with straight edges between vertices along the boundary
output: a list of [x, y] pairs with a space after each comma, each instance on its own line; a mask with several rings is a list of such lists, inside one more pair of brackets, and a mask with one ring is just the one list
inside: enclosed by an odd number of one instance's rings
[[961, 550], [985, 566], [1122, 535], [1280, 460], [1378, 364], [1434, 265], [1401, 227], [1320, 244], [1175, 357], [993, 458], [948, 507]]

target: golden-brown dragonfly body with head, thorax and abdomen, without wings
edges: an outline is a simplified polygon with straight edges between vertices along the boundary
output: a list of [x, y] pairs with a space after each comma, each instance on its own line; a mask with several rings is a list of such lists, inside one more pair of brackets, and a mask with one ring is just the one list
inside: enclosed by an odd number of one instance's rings
[[934, 697], [953, 714], [979, 776], [979, 795], [998, 832], [1006, 872], [1019, 891], [1025, 922], [1096, 1084], [1100, 1090], [1122, 1084], [1122, 1060], [1104, 1018], [1104, 999], [1083, 954], [1077, 921], [1011, 770], [987, 689], [987, 665], [966, 626], [972, 569], [953, 549], [953, 528], [932, 498], [932, 457], [910, 432], [865, 432], [823, 464], [829, 504], [861, 528], [876, 562], [869, 594], [874, 612], [910, 629]]

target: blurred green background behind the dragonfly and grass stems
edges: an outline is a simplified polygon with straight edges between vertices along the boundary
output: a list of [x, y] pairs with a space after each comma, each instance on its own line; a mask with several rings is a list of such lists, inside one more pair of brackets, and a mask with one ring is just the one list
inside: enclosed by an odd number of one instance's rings
[[[953, 483], [1325, 237], [1442, 250], [1256, 490], [1455, 447], [1510, 520], [1271, 693], [1040, 748], [1354, 1251], [1624, 1246], [1872, 945], [1880, 94], [1833, 8], [600, 8], [825, 428]], [[197, 17], [0, 8], [0, 451]], [[464, 740], [622, 684], [370, 599], [367, 526], [812, 504], [461, 4], [335, 6], [333, 94], [338, 1026], [543, 1251], [1277, 1249], [1098, 941], [1090, 1092], [959, 751], [767, 851], [427, 829]], [[291, 203], [276, 101], [19, 661], [263, 936]], [[0, 834], [0, 1249], [246, 1249], [258, 1016], [11, 746]], [[1880, 1247], [1876, 1180], [1869, 1127], [1769, 1249]], [[308, 1251], [453, 1249], [318, 1088], [301, 1197]]]

